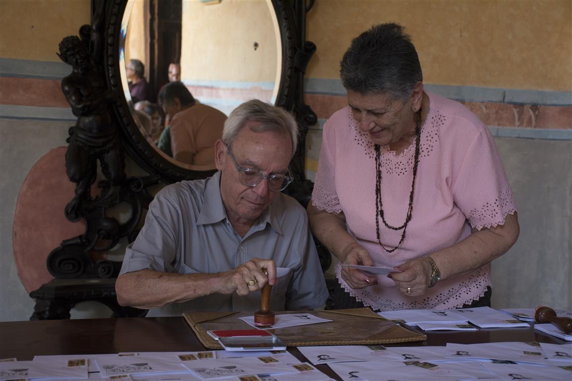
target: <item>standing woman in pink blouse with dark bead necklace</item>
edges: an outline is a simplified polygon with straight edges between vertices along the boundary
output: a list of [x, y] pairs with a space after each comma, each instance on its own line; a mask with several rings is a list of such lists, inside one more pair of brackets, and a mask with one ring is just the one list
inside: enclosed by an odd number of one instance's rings
[[348, 107], [324, 125], [308, 215], [342, 264], [336, 308], [490, 306], [490, 262], [519, 234], [513, 191], [486, 126], [423, 90], [403, 27], [355, 38], [341, 61]]

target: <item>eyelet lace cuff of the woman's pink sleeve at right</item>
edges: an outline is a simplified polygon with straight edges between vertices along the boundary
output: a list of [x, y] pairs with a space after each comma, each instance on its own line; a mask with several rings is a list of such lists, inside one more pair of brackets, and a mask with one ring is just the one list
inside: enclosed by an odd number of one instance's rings
[[476, 230], [505, 224], [506, 216], [516, 211], [516, 204], [513, 191], [510, 188], [504, 189], [498, 199], [485, 203], [479, 209], [472, 209], [467, 215], [468, 222]]

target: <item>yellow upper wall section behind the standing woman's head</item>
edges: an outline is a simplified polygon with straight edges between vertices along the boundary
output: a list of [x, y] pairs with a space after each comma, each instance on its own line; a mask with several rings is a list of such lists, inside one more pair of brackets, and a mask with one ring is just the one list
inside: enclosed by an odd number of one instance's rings
[[308, 14], [317, 51], [307, 77], [339, 78], [351, 39], [383, 22], [406, 27], [426, 83], [572, 90], [570, 0], [317, 0]]

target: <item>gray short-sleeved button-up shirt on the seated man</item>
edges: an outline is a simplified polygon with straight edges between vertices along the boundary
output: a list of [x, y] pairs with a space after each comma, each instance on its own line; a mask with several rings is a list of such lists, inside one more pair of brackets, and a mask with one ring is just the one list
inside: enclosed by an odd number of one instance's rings
[[[325, 303], [328, 291], [304, 208], [279, 193], [243, 238], [227, 218], [218, 172], [158, 192], [145, 226], [125, 252], [120, 275], [145, 268], [178, 274], [223, 272], [255, 257], [276, 263], [278, 282], [272, 287], [271, 310], [306, 310]], [[147, 316], [259, 309], [260, 291], [256, 291], [247, 296], [210, 294], [153, 308]]]

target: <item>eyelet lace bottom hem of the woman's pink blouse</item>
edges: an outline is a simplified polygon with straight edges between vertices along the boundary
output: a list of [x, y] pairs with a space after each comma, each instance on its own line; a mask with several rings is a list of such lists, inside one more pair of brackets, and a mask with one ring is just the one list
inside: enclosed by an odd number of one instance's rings
[[[341, 279], [340, 267], [336, 269], [337, 278]], [[423, 298], [411, 300], [411, 302], [395, 302], [391, 299], [380, 298], [372, 294], [367, 288], [359, 290], [356, 294], [353, 288], [345, 283], [340, 283], [346, 292], [354, 296], [356, 300], [362, 302], [365, 306], [371, 306], [374, 310], [395, 311], [395, 310], [431, 310], [431, 309], [451, 309], [460, 308], [464, 304], [472, 303], [484, 296], [487, 286], [490, 286], [490, 266], [479, 268], [474, 274], [464, 279], [456, 287], [443, 290], [433, 298]], [[438, 287], [438, 286], [436, 286]], [[403, 298], [407, 298], [403, 296]], [[407, 298], [410, 300], [410, 298]]]

